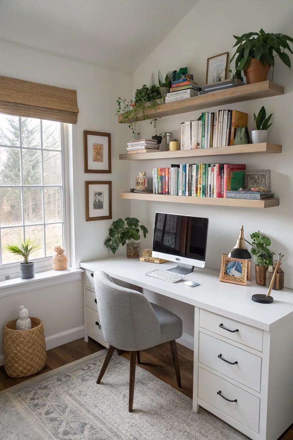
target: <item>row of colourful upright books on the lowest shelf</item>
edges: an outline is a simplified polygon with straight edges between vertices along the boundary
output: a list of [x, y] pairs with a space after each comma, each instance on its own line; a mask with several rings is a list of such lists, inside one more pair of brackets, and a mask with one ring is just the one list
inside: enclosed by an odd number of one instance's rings
[[154, 168], [153, 193], [226, 198], [231, 191], [243, 188], [244, 171], [243, 164], [181, 164]]

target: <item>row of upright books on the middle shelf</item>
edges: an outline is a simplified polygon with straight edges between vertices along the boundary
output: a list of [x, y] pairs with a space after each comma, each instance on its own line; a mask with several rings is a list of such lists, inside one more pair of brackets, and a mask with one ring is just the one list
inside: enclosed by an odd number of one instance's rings
[[205, 112], [198, 121], [181, 123], [181, 150], [233, 145], [237, 127], [247, 127], [248, 114], [238, 110]]

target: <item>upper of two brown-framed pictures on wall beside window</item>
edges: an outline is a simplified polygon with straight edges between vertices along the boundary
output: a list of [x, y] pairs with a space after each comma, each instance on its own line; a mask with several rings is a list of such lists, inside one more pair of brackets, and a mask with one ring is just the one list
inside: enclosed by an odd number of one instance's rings
[[84, 172], [111, 172], [111, 134], [83, 132]]

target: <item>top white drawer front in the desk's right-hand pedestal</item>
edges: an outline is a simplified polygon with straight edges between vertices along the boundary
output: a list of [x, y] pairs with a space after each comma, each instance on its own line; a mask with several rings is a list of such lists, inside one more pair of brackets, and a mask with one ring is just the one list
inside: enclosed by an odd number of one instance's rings
[[217, 315], [203, 309], [200, 309], [199, 326], [262, 352], [263, 330], [256, 327], [239, 323], [234, 321], [234, 319], [225, 318], [222, 315]]

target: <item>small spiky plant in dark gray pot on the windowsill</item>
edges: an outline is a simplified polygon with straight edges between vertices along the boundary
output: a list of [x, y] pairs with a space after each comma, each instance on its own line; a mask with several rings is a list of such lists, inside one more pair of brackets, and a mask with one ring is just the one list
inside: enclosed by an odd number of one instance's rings
[[31, 238], [21, 238], [20, 245], [7, 245], [5, 249], [8, 252], [14, 253], [15, 255], [20, 255], [23, 257], [23, 263], [20, 263], [20, 278], [28, 279], [35, 276], [35, 265], [33, 261], [29, 261], [29, 255], [36, 250], [39, 250], [41, 246]]

